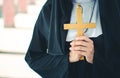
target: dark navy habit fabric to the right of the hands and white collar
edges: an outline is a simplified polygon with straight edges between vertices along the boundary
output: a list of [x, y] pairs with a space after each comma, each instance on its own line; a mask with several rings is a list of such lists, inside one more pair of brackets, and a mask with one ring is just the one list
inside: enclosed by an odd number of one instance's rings
[[94, 78], [120, 78], [120, 0], [99, 0], [99, 7], [104, 50], [96, 50]]

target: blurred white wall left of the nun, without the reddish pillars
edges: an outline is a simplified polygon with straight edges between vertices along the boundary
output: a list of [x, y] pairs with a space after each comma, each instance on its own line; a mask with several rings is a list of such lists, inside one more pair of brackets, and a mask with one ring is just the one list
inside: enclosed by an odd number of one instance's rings
[[45, 1], [37, 0], [35, 6], [28, 5], [28, 13], [16, 14], [15, 28], [4, 28], [3, 18], [0, 18], [0, 78], [40, 78], [29, 68], [24, 57], [35, 21]]

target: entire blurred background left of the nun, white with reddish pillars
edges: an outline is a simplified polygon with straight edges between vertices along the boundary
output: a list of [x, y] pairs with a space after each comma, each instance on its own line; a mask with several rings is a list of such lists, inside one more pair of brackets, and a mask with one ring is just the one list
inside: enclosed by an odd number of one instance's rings
[[41, 78], [24, 61], [46, 0], [0, 0], [0, 78]]

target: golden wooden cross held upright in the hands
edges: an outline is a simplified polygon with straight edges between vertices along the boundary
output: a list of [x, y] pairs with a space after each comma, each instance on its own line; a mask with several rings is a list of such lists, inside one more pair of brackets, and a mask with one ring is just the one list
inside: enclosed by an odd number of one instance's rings
[[[82, 21], [82, 8], [80, 5], [77, 6], [77, 24], [64, 24], [64, 29], [76, 29], [77, 36], [82, 36], [84, 34], [83, 29], [86, 28], [95, 28], [96, 24], [95, 23], [83, 23]], [[80, 58], [80, 60], [84, 60], [84, 56]]]

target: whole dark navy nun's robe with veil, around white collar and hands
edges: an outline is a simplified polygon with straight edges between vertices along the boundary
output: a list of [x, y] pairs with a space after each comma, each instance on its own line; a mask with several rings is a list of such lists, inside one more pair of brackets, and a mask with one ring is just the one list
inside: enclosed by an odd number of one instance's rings
[[26, 53], [28, 65], [43, 78], [120, 78], [120, 0], [99, 0], [99, 9], [103, 34], [91, 38], [93, 64], [69, 63], [63, 24], [70, 22], [71, 0], [47, 0]]

